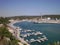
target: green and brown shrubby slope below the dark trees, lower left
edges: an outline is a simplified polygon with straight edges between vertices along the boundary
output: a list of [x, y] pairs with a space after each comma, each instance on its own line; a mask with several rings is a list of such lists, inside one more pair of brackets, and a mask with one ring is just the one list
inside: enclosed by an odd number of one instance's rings
[[9, 45], [18, 45], [18, 40], [8, 31], [5, 26], [2, 26], [0, 27], [0, 43], [3, 45], [5, 45], [5, 43]]

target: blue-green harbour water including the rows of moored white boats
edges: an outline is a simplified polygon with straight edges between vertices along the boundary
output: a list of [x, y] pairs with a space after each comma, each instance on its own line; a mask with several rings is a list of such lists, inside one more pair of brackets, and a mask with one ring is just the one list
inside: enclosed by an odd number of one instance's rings
[[[13, 25], [22, 28], [20, 36], [24, 38], [28, 43], [30, 43], [30, 45], [47, 45], [48, 43], [60, 41], [60, 24], [34, 23], [23, 21], [17, 22]], [[35, 34], [38, 32], [40, 32], [41, 34]], [[27, 36], [27, 34], [29, 35]], [[43, 36], [46, 36], [48, 40], [44, 40], [41, 42], [30, 42], [31, 40], [43, 38]]]

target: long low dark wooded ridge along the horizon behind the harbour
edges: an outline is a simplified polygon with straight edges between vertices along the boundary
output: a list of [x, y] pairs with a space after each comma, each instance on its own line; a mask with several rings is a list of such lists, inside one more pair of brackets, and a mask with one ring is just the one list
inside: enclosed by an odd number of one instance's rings
[[[60, 15], [43, 15], [42, 18], [58, 18], [60, 19]], [[41, 18], [41, 16], [13, 16], [13, 17], [7, 17], [9, 19], [33, 19], [33, 18]]]

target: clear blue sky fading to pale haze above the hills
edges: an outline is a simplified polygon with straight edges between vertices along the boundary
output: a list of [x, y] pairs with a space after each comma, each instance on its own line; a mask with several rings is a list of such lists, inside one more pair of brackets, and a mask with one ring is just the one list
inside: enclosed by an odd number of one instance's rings
[[0, 16], [60, 14], [60, 0], [0, 0]]

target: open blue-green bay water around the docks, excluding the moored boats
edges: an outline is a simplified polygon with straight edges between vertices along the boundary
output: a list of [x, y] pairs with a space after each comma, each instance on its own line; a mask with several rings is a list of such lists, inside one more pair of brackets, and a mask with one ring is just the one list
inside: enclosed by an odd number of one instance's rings
[[[15, 23], [14, 26], [18, 26], [23, 30], [30, 29], [30, 30], [40, 31], [43, 33], [43, 35], [46, 35], [46, 37], [48, 38], [47, 41], [41, 43], [33, 42], [31, 43], [31, 45], [47, 45], [47, 43], [60, 41], [60, 24], [48, 24], [48, 23], [35, 24], [33, 22], [24, 21], [24, 22]], [[36, 38], [39, 36], [35, 36], [35, 37], [30, 36], [27, 37], [26, 39]]]

